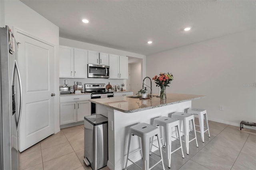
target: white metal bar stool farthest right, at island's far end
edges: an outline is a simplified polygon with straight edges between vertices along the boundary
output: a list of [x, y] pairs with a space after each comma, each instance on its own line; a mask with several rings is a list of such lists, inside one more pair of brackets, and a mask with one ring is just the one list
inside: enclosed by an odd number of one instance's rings
[[[208, 136], [210, 137], [210, 131], [209, 131], [209, 126], [208, 126], [206, 110], [191, 108], [191, 109], [188, 109], [187, 113], [192, 114], [192, 115], [198, 115], [200, 131], [196, 131], [196, 132], [201, 133], [202, 142], [204, 142], [204, 132], [208, 131]], [[206, 130], [204, 130], [204, 119], [205, 119], [205, 123], [206, 123]], [[196, 125], [196, 126], [198, 126], [198, 125]]]

